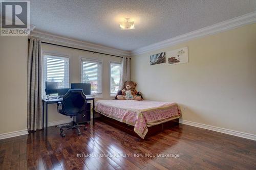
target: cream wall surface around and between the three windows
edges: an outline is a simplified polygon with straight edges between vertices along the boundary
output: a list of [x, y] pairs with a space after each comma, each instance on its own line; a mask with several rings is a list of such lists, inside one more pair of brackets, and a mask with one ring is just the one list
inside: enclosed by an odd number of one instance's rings
[[[42, 44], [42, 50], [46, 53], [62, 54], [69, 57], [69, 83], [80, 83], [80, 57], [102, 59], [102, 98], [100, 100], [113, 99], [110, 96], [110, 61], [120, 62], [121, 58], [44, 43]], [[49, 105], [48, 109], [49, 123], [69, 119], [68, 116], [61, 115], [57, 112], [56, 104]]]

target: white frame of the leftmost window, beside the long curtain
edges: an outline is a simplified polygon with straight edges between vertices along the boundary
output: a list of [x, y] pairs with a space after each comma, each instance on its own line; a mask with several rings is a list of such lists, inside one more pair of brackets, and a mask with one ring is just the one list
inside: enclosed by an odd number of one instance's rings
[[[42, 52], [42, 90], [43, 90], [43, 96], [46, 96], [45, 94], [45, 82], [47, 81], [47, 77], [46, 77], [46, 74], [47, 74], [47, 70], [45, 69], [45, 59], [47, 56], [52, 56], [52, 57], [59, 57], [59, 58], [64, 58], [64, 59], [67, 59], [68, 60], [68, 66], [67, 66], [67, 71], [68, 73], [67, 74], [64, 74], [64, 75], [67, 75], [68, 78], [66, 78], [66, 81], [67, 81], [67, 87], [63, 87], [63, 88], [70, 88], [70, 58], [68, 55], [65, 55], [65, 54], [58, 54], [58, 53], [51, 53], [51, 52]], [[66, 83], [65, 83], [66, 84]]]

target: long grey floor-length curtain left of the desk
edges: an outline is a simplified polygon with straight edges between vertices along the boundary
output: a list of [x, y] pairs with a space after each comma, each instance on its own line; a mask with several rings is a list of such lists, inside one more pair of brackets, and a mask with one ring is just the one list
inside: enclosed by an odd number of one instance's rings
[[30, 39], [28, 49], [28, 130], [42, 129], [41, 41]]

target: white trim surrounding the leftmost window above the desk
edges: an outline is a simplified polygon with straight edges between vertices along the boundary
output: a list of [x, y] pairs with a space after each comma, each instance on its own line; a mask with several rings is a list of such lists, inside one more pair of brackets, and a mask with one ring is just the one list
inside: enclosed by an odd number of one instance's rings
[[[68, 60], [70, 60], [69, 55], [66, 55], [66, 54], [42, 51], [42, 68], [43, 68], [43, 70], [42, 70], [42, 82], [44, 83], [44, 84], [42, 84], [42, 94], [43, 94], [43, 97], [46, 97], [45, 89], [44, 89], [45, 88], [45, 69], [44, 69], [44, 63], [45, 63], [45, 56], [47, 56], [47, 55], [68, 58]], [[68, 84], [69, 84], [68, 88], [70, 88], [70, 64], [68, 65]]]

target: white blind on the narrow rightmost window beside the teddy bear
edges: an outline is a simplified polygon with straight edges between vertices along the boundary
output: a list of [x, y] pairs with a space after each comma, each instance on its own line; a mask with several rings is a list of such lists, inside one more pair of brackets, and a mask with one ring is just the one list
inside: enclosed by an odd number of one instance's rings
[[110, 94], [116, 94], [119, 89], [121, 65], [110, 62]]

